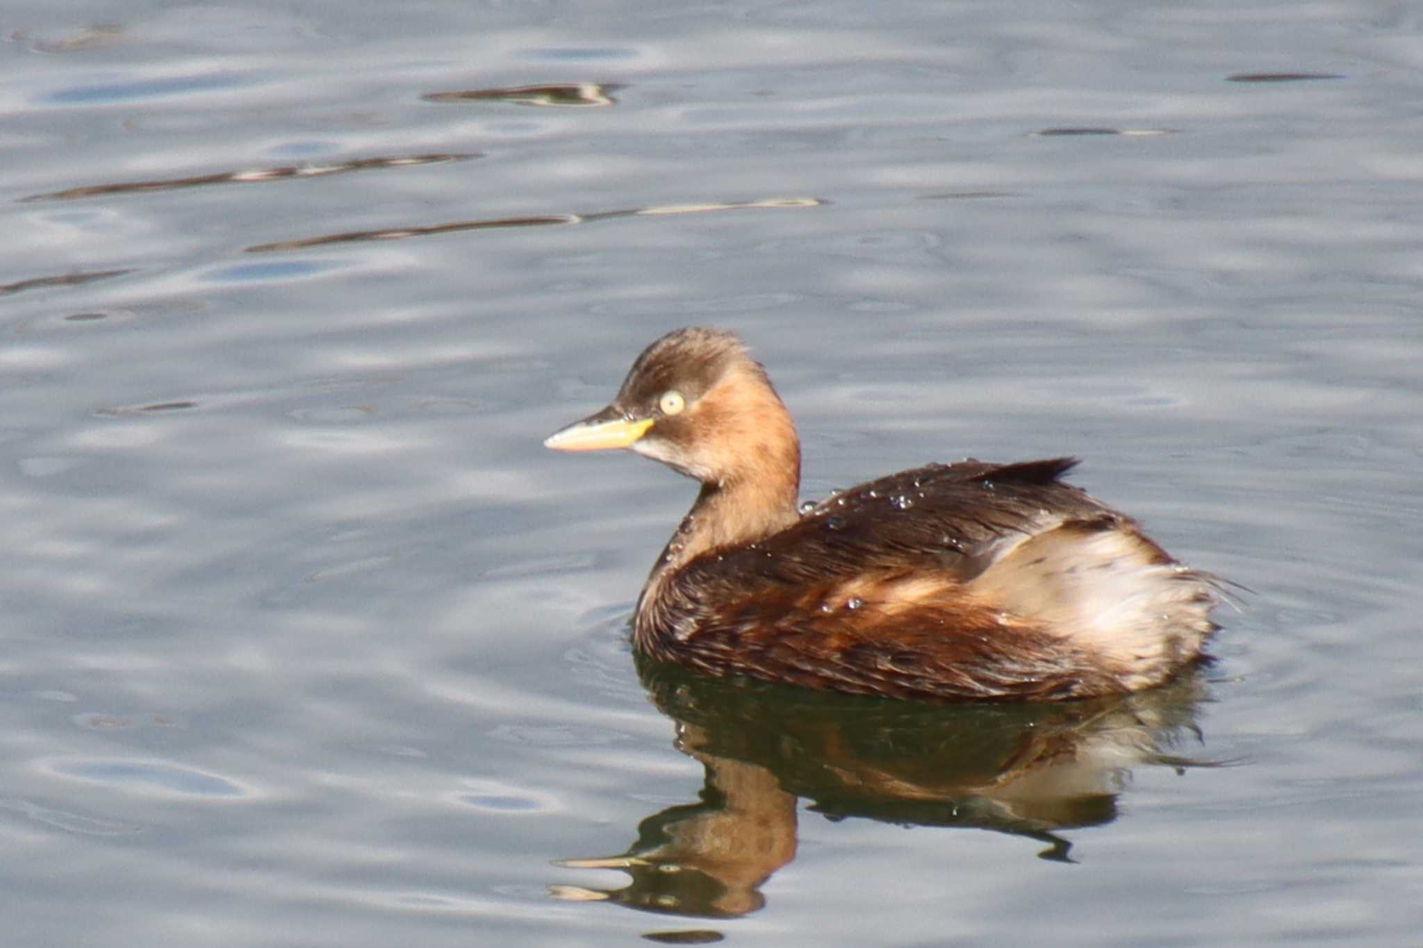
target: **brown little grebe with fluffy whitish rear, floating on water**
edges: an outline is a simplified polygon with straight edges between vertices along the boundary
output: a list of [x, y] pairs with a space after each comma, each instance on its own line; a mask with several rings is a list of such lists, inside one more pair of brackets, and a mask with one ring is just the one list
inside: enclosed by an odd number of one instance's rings
[[1072, 458], [926, 465], [797, 509], [790, 412], [731, 333], [683, 328], [544, 442], [702, 482], [638, 600], [635, 647], [713, 675], [898, 698], [1066, 699], [1201, 657], [1217, 583], [1059, 478]]

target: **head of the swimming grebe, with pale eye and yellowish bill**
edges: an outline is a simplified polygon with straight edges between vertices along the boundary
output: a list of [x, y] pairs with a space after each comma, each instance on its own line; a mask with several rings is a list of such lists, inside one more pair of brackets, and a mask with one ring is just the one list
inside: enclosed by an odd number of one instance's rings
[[785, 405], [734, 333], [689, 327], [642, 351], [608, 408], [555, 432], [556, 451], [630, 448], [702, 483], [800, 482]]

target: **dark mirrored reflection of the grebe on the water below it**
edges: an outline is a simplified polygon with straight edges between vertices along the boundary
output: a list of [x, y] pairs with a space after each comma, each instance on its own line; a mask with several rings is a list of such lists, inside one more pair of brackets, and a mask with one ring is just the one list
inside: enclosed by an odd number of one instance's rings
[[1200, 739], [1201, 669], [1133, 695], [1052, 704], [931, 705], [703, 678], [639, 662], [676, 746], [706, 766], [700, 800], [646, 817], [616, 890], [554, 885], [571, 901], [729, 918], [761, 908], [761, 885], [795, 858], [797, 802], [830, 820], [972, 827], [1039, 840], [1073, 861], [1062, 830], [1117, 817], [1133, 766], [1201, 766], [1173, 755]]

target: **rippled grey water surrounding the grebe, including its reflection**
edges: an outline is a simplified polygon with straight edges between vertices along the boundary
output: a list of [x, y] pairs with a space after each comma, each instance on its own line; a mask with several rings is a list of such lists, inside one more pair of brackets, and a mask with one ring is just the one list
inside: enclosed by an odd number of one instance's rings
[[[1416, 939], [1412, 4], [7, 13], [14, 938]], [[1083, 456], [1252, 590], [1220, 661], [990, 709], [639, 669], [690, 485], [539, 442], [687, 323], [807, 496]]]

